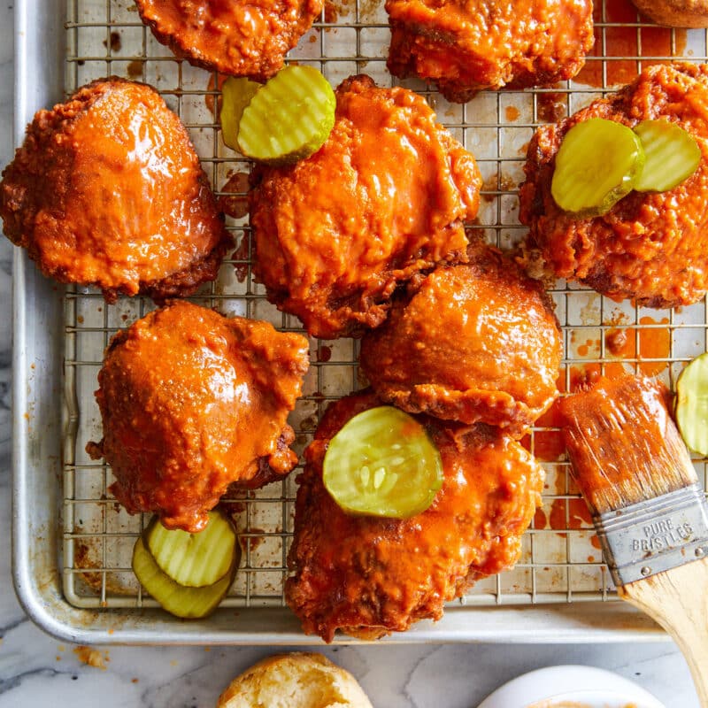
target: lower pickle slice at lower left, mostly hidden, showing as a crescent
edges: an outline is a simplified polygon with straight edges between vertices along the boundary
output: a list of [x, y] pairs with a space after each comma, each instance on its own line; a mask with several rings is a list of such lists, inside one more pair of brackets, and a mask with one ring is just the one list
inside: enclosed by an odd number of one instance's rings
[[142, 537], [133, 549], [133, 572], [150, 596], [154, 597], [164, 610], [186, 620], [198, 620], [211, 614], [218, 606], [234, 581], [237, 564], [219, 581], [203, 588], [188, 588], [180, 585], [163, 573], [150, 550], [145, 547]]

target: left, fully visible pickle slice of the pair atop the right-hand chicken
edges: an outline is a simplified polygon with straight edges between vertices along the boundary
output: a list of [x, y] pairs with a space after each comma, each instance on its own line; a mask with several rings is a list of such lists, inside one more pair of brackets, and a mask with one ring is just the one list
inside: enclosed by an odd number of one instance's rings
[[603, 118], [574, 125], [556, 156], [550, 193], [565, 212], [599, 216], [634, 189], [644, 151], [627, 126]]

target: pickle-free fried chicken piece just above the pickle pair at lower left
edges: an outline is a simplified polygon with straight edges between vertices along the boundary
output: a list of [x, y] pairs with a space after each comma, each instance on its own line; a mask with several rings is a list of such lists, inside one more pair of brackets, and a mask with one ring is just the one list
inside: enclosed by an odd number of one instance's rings
[[286, 419], [308, 365], [301, 335], [173, 301], [113, 337], [96, 391], [104, 438], [87, 450], [128, 512], [196, 532], [232, 482], [296, 465]]

